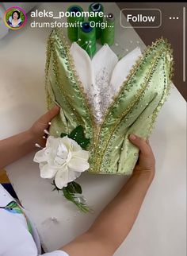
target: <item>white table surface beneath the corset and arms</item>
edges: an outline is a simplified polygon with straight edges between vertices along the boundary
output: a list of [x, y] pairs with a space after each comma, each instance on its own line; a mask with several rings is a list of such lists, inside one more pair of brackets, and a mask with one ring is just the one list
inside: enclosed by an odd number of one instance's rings
[[[89, 3], [78, 4], [85, 10], [89, 6]], [[38, 9], [67, 10], [69, 5], [67, 2], [42, 3]], [[118, 45], [113, 45], [113, 50], [127, 54], [137, 45], [144, 49], [134, 29], [120, 27], [120, 10], [116, 4], [104, 6], [106, 12], [116, 14]], [[0, 41], [1, 139], [28, 129], [46, 111], [44, 64], [51, 29], [30, 28], [29, 22], [34, 20], [38, 19], [29, 18], [25, 28], [10, 31]], [[115, 256], [185, 256], [186, 105], [174, 86], [158, 115], [150, 141], [157, 165], [155, 180], [132, 231]], [[126, 178], [82, 174], [78, 182], [95, 211], [83, 215], [63, 196], [52, 192], [50, 180], [40, 178], [33, 155], [30, 153], [6, 170], [22, 204], [36, 223], [44, 249], [52, 251], [86, 231]]]

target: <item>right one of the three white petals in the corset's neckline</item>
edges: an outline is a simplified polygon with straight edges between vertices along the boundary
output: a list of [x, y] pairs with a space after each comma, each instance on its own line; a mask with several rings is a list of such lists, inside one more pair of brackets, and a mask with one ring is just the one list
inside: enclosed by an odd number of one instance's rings
[[139, 47], [136, 47], [132, 52], [129, 52], [116, 64], [110, 80], [110, 90], [112, 91], [111, 93], [114, 91], [119, 91], [120, 86], [127, 79], [132, 66], [135, 64], [135, 61], [138, 60], [140, 55], [141, 50]]

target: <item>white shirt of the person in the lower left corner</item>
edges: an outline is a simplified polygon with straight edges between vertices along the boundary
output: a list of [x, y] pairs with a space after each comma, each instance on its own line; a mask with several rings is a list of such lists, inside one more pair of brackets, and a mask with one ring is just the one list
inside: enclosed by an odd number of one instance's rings
[[[12, 200], [12, 196], [0, 184], [0, 256], [40, 256], [28, 230], [25, 216], [3, 208]], [[55, 250], [42, 256], [68, 256], [68, 254], [62, 250]]]

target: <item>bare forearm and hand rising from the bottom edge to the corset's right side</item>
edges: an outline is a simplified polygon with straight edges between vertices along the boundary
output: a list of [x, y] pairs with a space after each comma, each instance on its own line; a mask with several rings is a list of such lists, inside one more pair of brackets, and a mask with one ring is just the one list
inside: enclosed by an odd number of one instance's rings
[[131, 231], [155, 176], [155, 157], [142, 138], [132, 135], [130, 140], [140, 149], [132, 176], [90, 229], [63, 246], [62, 250], [71, 256], [111, 256]]

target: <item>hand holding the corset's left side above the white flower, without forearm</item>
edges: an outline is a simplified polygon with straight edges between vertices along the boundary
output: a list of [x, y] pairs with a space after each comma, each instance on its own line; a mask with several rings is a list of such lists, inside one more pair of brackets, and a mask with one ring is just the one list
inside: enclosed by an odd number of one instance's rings
[[46, 144], [46, 138], [44, 138], [44, 135], [46, 135], [46, 133], [44, 132], [44, 130], [48, 130], [49, 122], [58, 113], [59, 107], [53, 107], [50, 111], [43, 114], [29, 129], [29, 132], [32, 134], [33, 139], [36, 141], [37, 144], [41, 145], [42, 147], [44, 147]]

